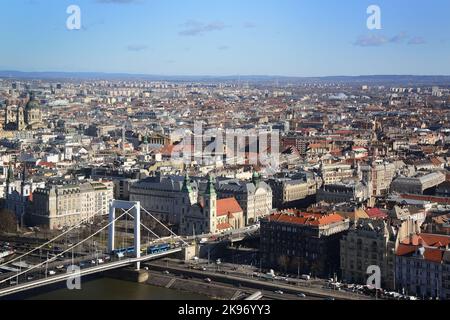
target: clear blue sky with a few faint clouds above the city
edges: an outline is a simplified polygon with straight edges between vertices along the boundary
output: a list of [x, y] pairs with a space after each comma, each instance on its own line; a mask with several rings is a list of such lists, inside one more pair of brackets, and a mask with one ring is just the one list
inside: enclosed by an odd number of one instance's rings
[[3, 0], [0, 28], [2, 70], [450, 75], [448, 0]]

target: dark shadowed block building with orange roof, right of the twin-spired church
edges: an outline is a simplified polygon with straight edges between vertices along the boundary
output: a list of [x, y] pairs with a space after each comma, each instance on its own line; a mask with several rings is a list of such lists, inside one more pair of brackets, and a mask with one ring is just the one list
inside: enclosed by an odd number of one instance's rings
[[261, 220], [261, 258], [280, 271], [330, 277], [339, 273], [339, 240], [350, 220], [336, 213], [314, 214], [295, 210]]

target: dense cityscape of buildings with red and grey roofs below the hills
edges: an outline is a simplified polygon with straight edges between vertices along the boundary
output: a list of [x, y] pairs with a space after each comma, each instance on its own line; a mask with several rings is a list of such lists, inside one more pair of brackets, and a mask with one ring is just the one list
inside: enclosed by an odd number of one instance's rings
[[[230, 274], [242, 278], [234, 298], [251, 293], [250, 279], [279, 285], [269, 299], [450, 298], [448, 86], [3, 78], [0, 102], [2, 288], [49, 254], [41, 277], [90, 260], [91, 247], [70, 246], [107, 220], [114, 199], [139, 202], [167, 230], [147, 227], [177, 235], [172, 248], [189, 244], [185, 261], [145, 267], [159, 270], [154, 285], [183, 275], [214, 287]], [[229, 129], [235, 139], [223, 141]], [[129, 222], [116, 227], [123, 249]], [[57, 247], [14, 259], [62, 232]], [[143, 242], [160, 241], [147, 233]], [[98, 235], [96, 265], [110, 259]]]

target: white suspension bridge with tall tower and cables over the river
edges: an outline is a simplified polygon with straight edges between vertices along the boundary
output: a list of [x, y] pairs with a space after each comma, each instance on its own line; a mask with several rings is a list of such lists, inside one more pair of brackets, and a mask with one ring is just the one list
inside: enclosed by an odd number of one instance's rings
[[[141, 212], [149, 216], [157, 225], [160, 225], [163, 230], [167, 231], [170, 236], [162, 237], [157, 235], [154, 231], [148, 228], [141, 222]], [[134, 245], [124, 246], [117, 249], [116, 246], [116, 222], [123, 218], [130, 217], [134, 221]], [[31, 258], [41, 252], [43, 249], [56, 244], [64, 237], [77, 230], [92, 219], [92, 216], [80, 221], [77, 225], [62, 232], [55, 238], [45, 242], [44, 244], [15, 257], [8, 262], [0, 264], [0, 268], [8, 268], [7, 265], [19, 262], [23, 265], [23, 261]], [[152, 234], [152, 241], [144, 244], [141, 243], [141, 228], [145, 229], [148, 234]], [[96, 250], [95, 253], [83, 252], [83, 245], [89, 241], [93, 241], [95, 237], [101, 236], [102, 232], [108, 233], [107, 252], [99, 257]], [[141, 207], [140, 202], [118, 201], [113, 200], [110, 204], [108, 224], [102, 226], [99, 230], [89, 234], [84, 239], [79, 240], [76, 244], [70, 244], [68, 248], [60, 250], [52, 257], [48, 257], [44, 261], [28, 266], [24, 270], [17, 270], [11, 274], [7, 274], [0, 278], [0, 297], [16, 294], [22, 291], [46, 286], [49, 284], [67, 281], [76, 276], [87, 276], [95, 273], [100, 273], [112, 269], [123, 268], [130, 265], [135, 265], [136, 270], [139, 270], [142, 262], [159, 259], [174, 253], [178, 253], [187, 248], [189, 244], [180, 236], [176, 235], [170, 228], [159, 221], [155, 216]], [[81, 248], [82, 254], [75, 258], [76, 248]], [[71, 259], [66, 259], [67, 256], [72, 256]], [[61, 262], [61, 259], [66, 259]], [[61, 265], [62, 264], [62, 265]], [[49, 267], [55, 265], [64, 266], [61, 273], [49, 271]], [[69, 266], [69, 268], [65, 268]], [[78, 268], [73, 268], [76, 266]]]

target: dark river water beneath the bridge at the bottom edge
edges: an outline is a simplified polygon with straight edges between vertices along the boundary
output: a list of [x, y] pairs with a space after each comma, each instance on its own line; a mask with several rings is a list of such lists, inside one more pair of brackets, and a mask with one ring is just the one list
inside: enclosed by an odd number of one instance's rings
[[81, 290], [55, 288], [33, 293], [29, 300], [207, 300], [208, 297], [111, 278], [92, 279], [81, 284]]

